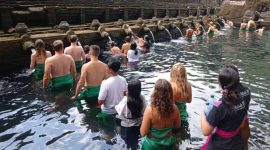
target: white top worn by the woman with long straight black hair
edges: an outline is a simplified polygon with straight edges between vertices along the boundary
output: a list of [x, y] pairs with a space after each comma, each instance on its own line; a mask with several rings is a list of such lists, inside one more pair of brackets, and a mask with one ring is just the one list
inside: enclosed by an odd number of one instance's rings
[[[143, 114], [147, 104], [145, 102], [145, 98], [143, 95], [141, 95], [141, 98], [143, 101], [143, 109], [142, 109], [142, 114]], [[132, 126], [140, 126], [141, 125], [143, 117], [139, 117], [136, 119], [128, 119], [128, 118], [132, 118], [132, 115], [131, 115], [131, 112], [127, 106], [127, 96], [125, 96], [121, 100], [121, 102], [115, 106], [115, 110], [117, 111], [117, 114], [118, 114], [116, 116], [116, 118], [121, 119], [121, 126], [132, 127]]]

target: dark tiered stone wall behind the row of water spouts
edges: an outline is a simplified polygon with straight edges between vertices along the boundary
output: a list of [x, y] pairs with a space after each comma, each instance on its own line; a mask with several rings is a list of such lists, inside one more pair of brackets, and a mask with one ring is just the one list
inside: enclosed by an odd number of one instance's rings
[[[187, 9], [214, 8], [219, 0], [1, 0], [0, 30], [8, 31], [17, 23], [29, 27], [55, 26], [66, 20], [70, 24], [118, 19], [150, 19], [153, 16], [188, 16]], [[180, 13], [179, 13], [180, 12]], [[183, 12], [183, 13], [182, 13]]]

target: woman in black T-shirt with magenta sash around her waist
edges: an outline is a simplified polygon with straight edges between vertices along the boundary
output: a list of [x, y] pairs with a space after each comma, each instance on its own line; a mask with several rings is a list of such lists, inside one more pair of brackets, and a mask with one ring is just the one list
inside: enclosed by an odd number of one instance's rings
[[201, 150], [242, 150], [241, 128], [247, 117], [248, 104], [237, 90], [239, 74], [233, 68], [224, 67], [218, 79], [222, 98], [214, 102], [207, 116], [202, 113], [202, 133], [208, 138]]

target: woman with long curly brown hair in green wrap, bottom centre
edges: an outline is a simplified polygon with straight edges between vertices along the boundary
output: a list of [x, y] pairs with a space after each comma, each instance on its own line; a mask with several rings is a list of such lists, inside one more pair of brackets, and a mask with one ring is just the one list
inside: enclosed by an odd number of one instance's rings
[[143, 150], [171, 150], [175, 145], [172, 130], [180, 128], [179, 110], [173, 102], [170, 82], [159, 79], [151, 96], [151, 104], [146, 107], [141, 125], [144, 137]]

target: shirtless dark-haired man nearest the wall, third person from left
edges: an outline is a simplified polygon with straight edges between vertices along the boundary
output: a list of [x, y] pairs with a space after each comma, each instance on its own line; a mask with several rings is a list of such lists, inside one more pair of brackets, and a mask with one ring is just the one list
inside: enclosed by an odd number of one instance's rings
[[76, 71], [80, 72], [82, 65], [85, 63], [85, 53], [81, 46], [77, 46], [78, 37], [76, 35], [70, 36], [71, 45], [65, 48], [64, 53], [71, 55], [75, 61]]

